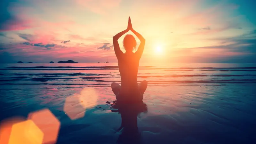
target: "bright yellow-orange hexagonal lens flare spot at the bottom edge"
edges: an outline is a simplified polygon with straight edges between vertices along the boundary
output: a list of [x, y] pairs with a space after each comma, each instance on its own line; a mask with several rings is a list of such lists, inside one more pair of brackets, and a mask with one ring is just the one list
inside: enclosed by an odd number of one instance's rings
[[8, 144], [42, 144], [44, 133], [32, 120], [22, 121], [12, 125]]

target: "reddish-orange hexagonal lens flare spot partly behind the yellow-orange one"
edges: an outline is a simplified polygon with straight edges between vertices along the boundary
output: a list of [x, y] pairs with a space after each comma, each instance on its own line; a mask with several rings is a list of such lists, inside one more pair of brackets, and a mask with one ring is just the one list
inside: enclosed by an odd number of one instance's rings
[[43, 144], [54, 144], [57, 142], [60, 121], [49, 109], [32, 112], [28, 115], [28, 119], [31, 119], [44, 133]]

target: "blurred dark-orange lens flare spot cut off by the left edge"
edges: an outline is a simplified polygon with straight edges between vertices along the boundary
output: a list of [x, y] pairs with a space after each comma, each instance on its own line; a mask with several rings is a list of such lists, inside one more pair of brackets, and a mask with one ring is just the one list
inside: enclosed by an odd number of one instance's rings
[[25, 120], [24, 117], [19, 116], [3, 120], [0, 125], [0, 144], [8, 144], [12, 132], [12, 125]]

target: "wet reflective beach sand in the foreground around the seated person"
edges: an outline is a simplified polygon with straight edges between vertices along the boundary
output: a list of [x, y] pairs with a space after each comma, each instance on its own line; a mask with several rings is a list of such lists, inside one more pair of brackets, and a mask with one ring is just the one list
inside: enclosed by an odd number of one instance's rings
[[[109, 86], [1, 85], [0, 93], [1, 121], [47, 108], [60, 121], [58, 144], [113, 144], [118, 138], [143, 144], [255, 142], [255, 85], [150, 85], [143, 100], [147, 110], [137, 118], [139, 134], [132, 138], [129, 131], [120, 136], [121, 114]], [[127, 105], [121, 112], [126, 124], [139, 109]]]

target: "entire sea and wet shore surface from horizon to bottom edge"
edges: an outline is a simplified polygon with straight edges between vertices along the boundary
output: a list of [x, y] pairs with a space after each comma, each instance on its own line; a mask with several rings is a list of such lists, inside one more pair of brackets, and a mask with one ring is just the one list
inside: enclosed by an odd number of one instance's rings
[[[60, 122], [58, 144], [255, 142], [256, 64], [141, 63], [146, 107], [122, 112], [110, 87], [120, 80], [117, 63], [0, 64], [0, 120], [47, 109]], [[118, 130], [131, 121], [132, 138]]]

